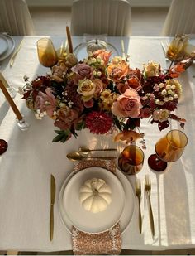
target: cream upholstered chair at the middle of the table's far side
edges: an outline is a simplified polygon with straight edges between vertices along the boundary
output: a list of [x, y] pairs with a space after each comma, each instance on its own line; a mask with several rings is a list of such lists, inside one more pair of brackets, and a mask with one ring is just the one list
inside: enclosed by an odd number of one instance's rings
[[74, 0], [71, 34], [131, 35], [131, 5], [127, 0]]

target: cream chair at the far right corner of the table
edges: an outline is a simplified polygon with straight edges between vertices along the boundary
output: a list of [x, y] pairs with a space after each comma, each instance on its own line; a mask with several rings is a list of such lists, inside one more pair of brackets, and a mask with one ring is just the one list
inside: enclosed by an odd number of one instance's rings
[[195, 0], [173, 0], [161, 36], [195, 33]]

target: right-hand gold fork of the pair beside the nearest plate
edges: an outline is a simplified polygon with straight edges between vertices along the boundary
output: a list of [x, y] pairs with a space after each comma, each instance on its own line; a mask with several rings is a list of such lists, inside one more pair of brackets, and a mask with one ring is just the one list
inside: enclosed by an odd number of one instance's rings
[[150, 229], [152, 231], [153, 237], [155, 236], [155, 225], [154, 225], [154, 218], [152, 213], [151, 201], [150, 201], [150, 191], [151, 191], [151, 181], [150, 175], [145, 175], [145, 193], [149, 202], [149, 217], [150, 217]]

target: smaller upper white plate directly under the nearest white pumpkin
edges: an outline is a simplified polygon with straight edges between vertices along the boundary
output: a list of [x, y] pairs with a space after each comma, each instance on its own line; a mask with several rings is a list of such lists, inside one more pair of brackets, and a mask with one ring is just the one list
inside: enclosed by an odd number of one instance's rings
[[[79, 200], [79, 190], [85, 181], [98, 178], [106, 181], [112, 190], [112, 201], [107, 209], [98, 213], [84, 210]], [[62, 196], [64, 213], [75, 228], [91, 234], [98, 234], [111, 229], [119, 221], [125, 205], [125, 193], [121, 182], [111, 171], [101, 167], [89, 167], [78, 171], [64, 188]]]

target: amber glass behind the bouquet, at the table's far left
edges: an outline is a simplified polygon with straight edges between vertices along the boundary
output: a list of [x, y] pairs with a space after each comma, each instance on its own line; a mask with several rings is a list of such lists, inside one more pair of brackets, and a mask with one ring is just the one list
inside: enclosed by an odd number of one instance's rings
[[40, 38], [36, 45], [40, 64], [45, 67], [52, 67], [57, 64], [58, 55], [50, 38]]

